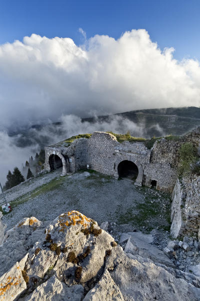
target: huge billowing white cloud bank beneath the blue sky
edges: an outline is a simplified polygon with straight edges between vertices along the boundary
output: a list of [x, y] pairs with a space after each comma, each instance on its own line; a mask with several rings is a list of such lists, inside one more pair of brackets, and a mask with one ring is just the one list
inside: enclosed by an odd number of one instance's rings
[[145, 30], [118, 40], [96, 35], [81, 47], [35, 34], [1, 45], [0, 122], [199, 106], [199, 62], [176, 61], [173, 51], [161, 51]]

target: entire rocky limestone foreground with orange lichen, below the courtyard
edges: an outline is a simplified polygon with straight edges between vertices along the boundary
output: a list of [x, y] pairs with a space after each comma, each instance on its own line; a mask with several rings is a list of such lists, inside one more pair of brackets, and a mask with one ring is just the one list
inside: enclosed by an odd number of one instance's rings
[[0, 300], [200, 300], [200, 277], [165, 257], [163, 264], [159, 252], [157, 261], [155, 250], [132, 255], [133, 244], [129, 239], [125, 253], [78, 211], [50, 224], [24, 218], [0, 245]]

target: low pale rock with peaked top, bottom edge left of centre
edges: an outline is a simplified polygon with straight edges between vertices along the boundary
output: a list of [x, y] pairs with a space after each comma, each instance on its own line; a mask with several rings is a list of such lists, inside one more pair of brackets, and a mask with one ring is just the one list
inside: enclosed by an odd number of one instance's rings
[[80, 301], [83, 297], [82, 285], [72, 285], [67, 287], [55, 276], [37, 286], [37, 288], [27, 296], [24, 301]]

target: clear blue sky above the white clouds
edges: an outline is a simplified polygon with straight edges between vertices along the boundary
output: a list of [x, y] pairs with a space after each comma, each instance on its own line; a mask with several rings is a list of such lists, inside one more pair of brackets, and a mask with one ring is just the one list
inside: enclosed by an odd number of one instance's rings
[[0, 0], [0, 44], [32, 33], [69, 37], [76, 45], [87, 38], [115, 39], [131, 29], [145, 29], [158, 46], [173, 47], [174, 58], [200, 59], [200, 1], [198, 0]]

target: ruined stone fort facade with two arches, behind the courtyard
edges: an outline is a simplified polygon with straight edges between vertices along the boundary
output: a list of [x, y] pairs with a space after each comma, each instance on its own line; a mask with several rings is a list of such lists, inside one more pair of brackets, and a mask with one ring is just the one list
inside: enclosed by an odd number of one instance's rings
[[172, 192], [177, 179], [178, 149], [183, 141], [199, 143], [199, 133], [192, 132], [181, 140], [157, 140], [151, 149], [143, 142], [123, 141], [106, 132], [94, 132], [70, 145], [62, 141], [45, 146], [45, 169], [62, 167], [61, 176], [89, 168], [114, 178], [126, 177], [137, 186], [154, 186]]

